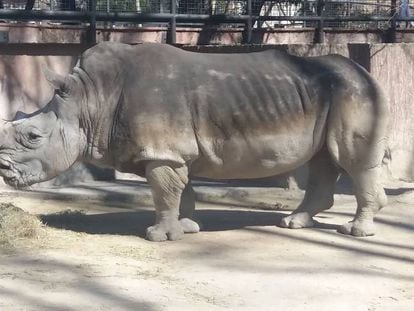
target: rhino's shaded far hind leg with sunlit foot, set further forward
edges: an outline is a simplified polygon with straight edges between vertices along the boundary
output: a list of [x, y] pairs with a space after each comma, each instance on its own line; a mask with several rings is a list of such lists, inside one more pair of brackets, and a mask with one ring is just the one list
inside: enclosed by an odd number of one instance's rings
[[299, 229], [312, 227], [313, 216], [333, 205], [335, 183], [339, 170], [326, 148], [309, 162], [309, 177], [305, 197], [298, 208], [280, 222], [284, 228]]

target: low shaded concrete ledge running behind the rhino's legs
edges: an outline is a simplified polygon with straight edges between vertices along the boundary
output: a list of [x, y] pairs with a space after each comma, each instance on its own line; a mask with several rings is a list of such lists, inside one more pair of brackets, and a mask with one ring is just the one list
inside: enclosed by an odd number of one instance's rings
[[[226, 181], [195, 180], [192, 182], [192, 185], [195, 189], [197, 202], [230, 208], [291, 211], [296, 209], [304, 196], [304, 191], [301, 190], [286, 190], [267, 185], [262, 186], [260, 183], [248, 183], [238, 180], [231, 183]], [[354, 202], [353, 204], [356, 207], [352, 189], [341, 188], [341, 186], [339, 186], [339, 189], [335, 194], [351, 196], [336, 197], [334, 207], [345, 201]], [[410, 196], [412, 191], [414, 191], [414, 187], [385, 188], [390, 202], [396, 200], [400, 195], [408, 194]], [[67, 202], [82, 202], [87, 198], [93, 201], [94, 204], [103, 204], [108, 208], [135, 209], [136, 207], [153, 206], [151, 189], [145, 181], [91, 182], [72, 185], [68, 188], [40, 187], [33, 188], [23, 194], [40, 196], [42, 199]], [[394, 197], [392, 198], [391, 196]]]

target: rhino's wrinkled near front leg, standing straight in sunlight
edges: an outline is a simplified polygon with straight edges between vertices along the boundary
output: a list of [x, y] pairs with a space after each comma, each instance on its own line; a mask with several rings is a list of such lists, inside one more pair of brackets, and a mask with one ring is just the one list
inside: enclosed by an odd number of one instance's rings
[[156, 209], [156, 221], [147, 229], [147, 239], [157, 242], [181, 239], [185, 230], [178, 217], [181, 195], [188, 183], [187, 167], [153, 161], [147, 165], [145, 174]]

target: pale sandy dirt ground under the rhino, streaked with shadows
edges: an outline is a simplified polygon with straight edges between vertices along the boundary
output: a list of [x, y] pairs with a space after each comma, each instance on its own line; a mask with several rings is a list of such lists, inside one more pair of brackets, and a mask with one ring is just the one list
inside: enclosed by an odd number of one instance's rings
[[414, 184], [387, 186], [368, 238], [336, 233], [355, 210], [349, 191], [315, 228], [291, 230], [275, 224], [302, 191], [195, 189], [203, 231], [151, 243], [145, 183], [3, 188], [0, 202], [47, 226], [0, 250], [0, 310], [413, 310]]

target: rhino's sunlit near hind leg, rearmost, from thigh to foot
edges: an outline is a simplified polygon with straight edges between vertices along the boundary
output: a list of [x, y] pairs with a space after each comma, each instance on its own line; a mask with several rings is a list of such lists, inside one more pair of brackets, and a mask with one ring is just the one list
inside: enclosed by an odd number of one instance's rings
[[[371, 92], [374, 91], [372, 87]], [[387, 147], [388, 111], [380, 94], [361, 102], [363, 105], [352, 101], [337, 105], [337, 111], [332, 111], [327, 145], [334, 161], [352, 178], [357, 200], [354, 219], [338, 231], [370, 236], [375, 233], [374, 216], [387, 202], [381, 173]], [[353, 110], [358, 111], [358, 118], [349, 114]]]

